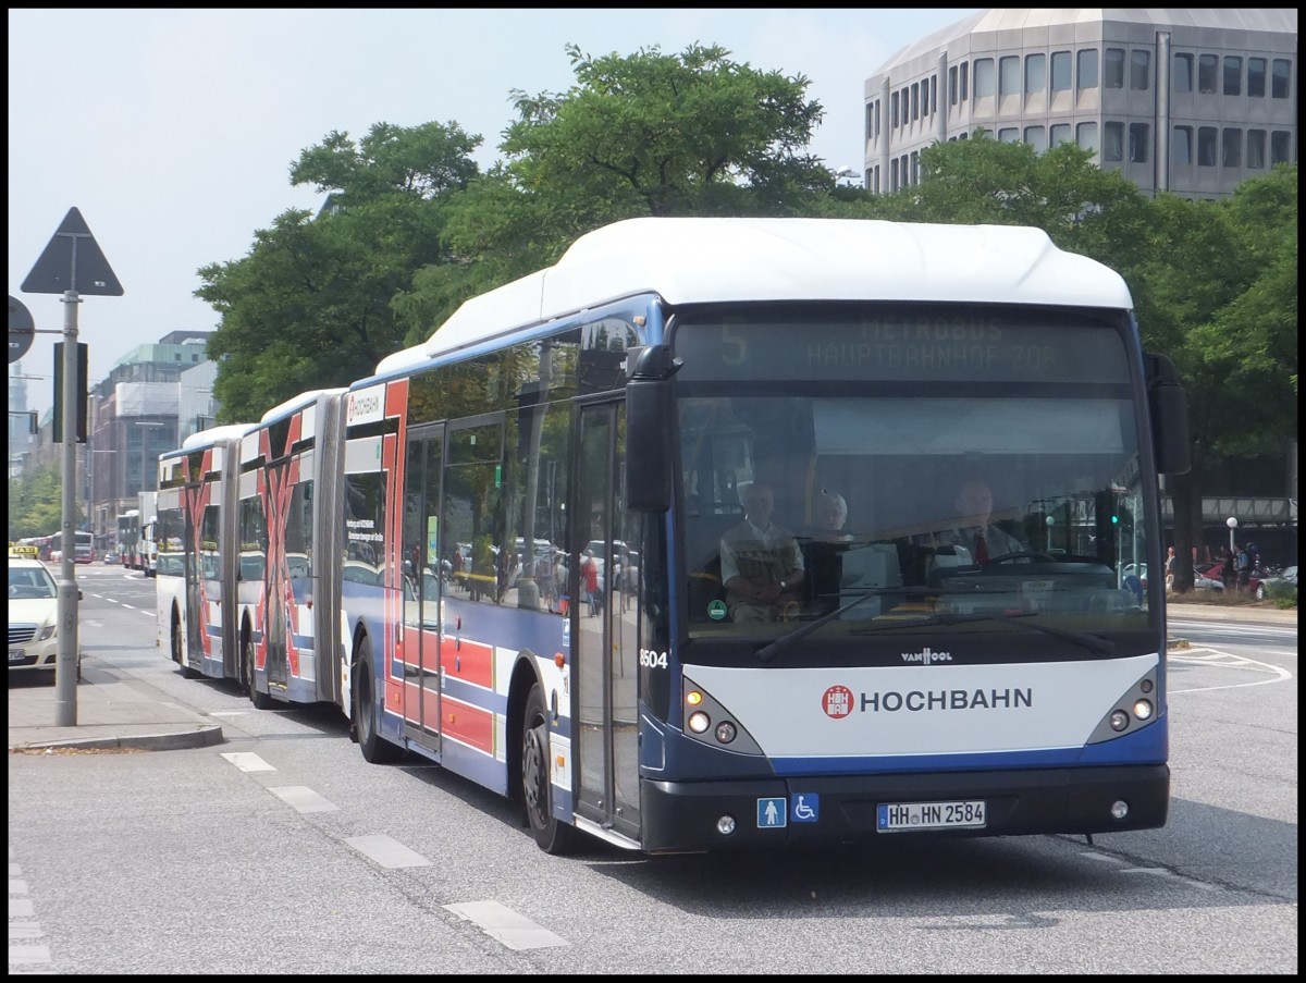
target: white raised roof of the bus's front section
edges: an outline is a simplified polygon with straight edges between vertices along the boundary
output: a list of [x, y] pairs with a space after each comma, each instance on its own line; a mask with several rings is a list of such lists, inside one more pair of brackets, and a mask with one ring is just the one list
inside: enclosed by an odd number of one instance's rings
[[862, 218], [628, 218], [580, 237], [552, 267], [462, 303], [383, 375], [623, 297], [671, 305], [943, 301], [1130, 310], [1124, 280], [1042, 229]]

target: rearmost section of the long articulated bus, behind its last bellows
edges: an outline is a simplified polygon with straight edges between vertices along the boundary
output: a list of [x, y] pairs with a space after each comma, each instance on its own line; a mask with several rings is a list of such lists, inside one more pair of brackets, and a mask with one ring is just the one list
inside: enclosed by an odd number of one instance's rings
[[246, 424], [192, 434], [159, 455], [158, 643], [187, 676], [240, 678], [236, 477]]

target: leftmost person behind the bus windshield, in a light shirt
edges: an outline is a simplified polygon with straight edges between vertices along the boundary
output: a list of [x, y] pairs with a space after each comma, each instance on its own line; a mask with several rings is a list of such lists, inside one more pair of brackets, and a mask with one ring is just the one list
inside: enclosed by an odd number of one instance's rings
[[791, 532], [772, 522], [776, 495], [755, 481], [743, 493], [744, 519], [721, 537], [721, 582], [733, 621], [776, 621], [797, 613], [803, 554]]

